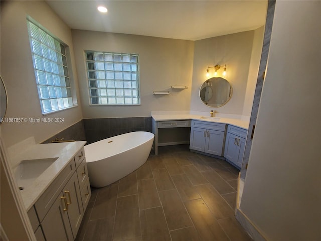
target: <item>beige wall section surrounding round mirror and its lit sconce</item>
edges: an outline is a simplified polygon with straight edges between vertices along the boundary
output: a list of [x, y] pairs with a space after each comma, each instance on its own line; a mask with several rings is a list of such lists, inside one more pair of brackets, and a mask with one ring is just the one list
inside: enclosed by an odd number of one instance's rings
[[[262, 29], [195, 41], [191, 110], [207, 112], [215, 109], [218, 113], [250, 115], [262, 51]], [[226, 76], [222, 75], [222, 68], [217, 76], [227, 79], [233, 89], [230, 101], [219, 108], [206, 106], [199, 97], [199, 90], [203, 82], [213, 77], [213, 68], [210, 69], [212, 75], [206, 77], [207, 66], [216, 64], [226, 64]], [[253, 78], [255, 72], [256, 76]], [[246, 98], [246, 95], [252, 98]], [[246, 111], [243, 112], [243, 108]]]

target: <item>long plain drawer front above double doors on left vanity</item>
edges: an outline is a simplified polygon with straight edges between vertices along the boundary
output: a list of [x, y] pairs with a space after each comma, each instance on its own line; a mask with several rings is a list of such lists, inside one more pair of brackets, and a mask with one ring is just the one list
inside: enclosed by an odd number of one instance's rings
[[56, 201], [58, 193], [61, 192], [61, 189], [66, 185], [75, 171], [75, 162], [72, 160], [39, 197], [35, 203], [35, 208], [40, 222], [43, 220], [52, 204]]

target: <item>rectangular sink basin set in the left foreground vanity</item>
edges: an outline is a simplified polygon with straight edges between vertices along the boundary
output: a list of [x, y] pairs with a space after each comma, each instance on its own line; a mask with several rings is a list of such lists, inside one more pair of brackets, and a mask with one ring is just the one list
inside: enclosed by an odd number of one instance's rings
[[58, 157], [21, 161], [14, 169], [19, 190], [28, 187], [57, 159]]

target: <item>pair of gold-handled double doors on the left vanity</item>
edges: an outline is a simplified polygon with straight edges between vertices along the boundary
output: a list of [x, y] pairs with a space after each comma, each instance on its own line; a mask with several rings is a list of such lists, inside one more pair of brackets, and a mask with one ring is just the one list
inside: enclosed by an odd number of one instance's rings
[[41, 222], [46, 240], [74, 240], [83, 215], [77, 173], [74, 172]]

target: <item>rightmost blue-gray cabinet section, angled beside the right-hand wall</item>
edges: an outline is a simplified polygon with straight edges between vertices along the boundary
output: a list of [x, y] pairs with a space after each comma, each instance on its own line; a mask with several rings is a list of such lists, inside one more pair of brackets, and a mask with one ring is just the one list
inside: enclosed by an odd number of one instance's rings
[[239, 169], [242, 166], [247, 130], [228, 125], [224, 157]]

